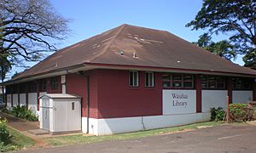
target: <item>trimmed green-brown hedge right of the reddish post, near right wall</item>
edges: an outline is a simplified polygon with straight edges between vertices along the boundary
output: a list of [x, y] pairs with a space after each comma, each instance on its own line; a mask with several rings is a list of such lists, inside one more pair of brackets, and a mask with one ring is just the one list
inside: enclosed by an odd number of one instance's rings
[[230, 119], [234, 122], [243, 122], [247, 117], [247, 105], [246, 104], [230, 104]]

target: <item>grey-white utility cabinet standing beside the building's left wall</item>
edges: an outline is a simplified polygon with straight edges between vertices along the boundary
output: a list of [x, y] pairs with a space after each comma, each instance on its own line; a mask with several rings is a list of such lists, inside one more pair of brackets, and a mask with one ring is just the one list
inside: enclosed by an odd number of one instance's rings
[[39, 99], [40, 128], [52, 134], [81, 131], [81, 97], [44, 94]]

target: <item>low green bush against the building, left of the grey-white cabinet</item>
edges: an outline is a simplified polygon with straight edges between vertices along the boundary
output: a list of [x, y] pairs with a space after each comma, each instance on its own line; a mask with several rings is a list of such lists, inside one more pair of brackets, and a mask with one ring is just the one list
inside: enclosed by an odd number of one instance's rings
[[13, 110], [9, 111], [9, 113], [13, 116], [26, 119], [27, 121], [38, 121], [38, 116], [36, 116], [33, 111], [27, 110], [25, 105], [17, 105], [16, 107], [13, 107]]

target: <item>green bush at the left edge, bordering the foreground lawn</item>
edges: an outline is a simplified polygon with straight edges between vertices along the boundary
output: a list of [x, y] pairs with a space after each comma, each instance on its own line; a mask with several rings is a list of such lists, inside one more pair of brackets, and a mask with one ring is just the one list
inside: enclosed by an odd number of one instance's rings
[[7, 126], [7, 120], [0, 117], [0, 145], [9, 144], [12, 138], [12, 135], [9, 133]]

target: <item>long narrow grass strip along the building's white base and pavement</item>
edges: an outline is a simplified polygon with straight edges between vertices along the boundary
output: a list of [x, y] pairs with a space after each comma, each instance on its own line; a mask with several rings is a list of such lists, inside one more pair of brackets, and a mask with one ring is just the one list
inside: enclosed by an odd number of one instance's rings
[[139, 139], [148, 136], [160, 135], [165, 133], [175, 133], [183, 130], [189, 129], [198, 129], [199, 127], [204, 126], [218, 126], [221, 122], [201, 122], [190, 124], [186, 126], [180, 127], [166, 127], [166, 128], [159, 128], [153, 130], [145, 130], [139, 131], [135, 133], [119, 133], [107, 136], [86, 136], [85, 134], [75, 134], [75, 135], [68, 135], [68, 136], [60, 136], [54, 138], [47, 138], [45, 139], [51, 145], [67, 145], [67, 144], [89, 144], [94, 142], [102, 142], [108, 140], [118, 140], [118, 139]]

